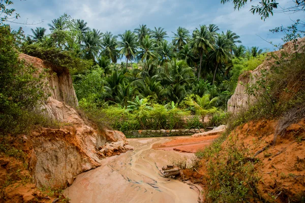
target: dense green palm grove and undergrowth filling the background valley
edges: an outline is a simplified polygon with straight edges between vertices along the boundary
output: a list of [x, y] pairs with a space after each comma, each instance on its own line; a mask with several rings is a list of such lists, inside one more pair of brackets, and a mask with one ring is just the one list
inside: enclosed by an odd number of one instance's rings
[[199, 117], [214, 114], [210, 124], [221, 123], [216, 117], [224, 117], [239, 75], [265, 57], [257, 47], [237, 46], [236, 33], [218, 32], [214, 24], [192, 33], [178, 27], [172, 41], [161, 27], [140, 25], [114, 36], [86, 24], [65, 14], [52, 20], [50, 33], [16, 32], [17, 49], [59, 72], [70, 70], [80, 109], [98, 125], [124, 132], [201, 128]]

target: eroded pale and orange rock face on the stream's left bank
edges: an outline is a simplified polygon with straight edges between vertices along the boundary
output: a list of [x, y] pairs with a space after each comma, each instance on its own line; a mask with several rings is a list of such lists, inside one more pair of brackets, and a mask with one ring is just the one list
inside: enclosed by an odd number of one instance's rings
[[104, 145], [109, 149], [107, 156], [126, 152], [124, 146], [128, 142], [123, 132], [101, 132], [73, 108], [78, 101], [68, 70], [25, 54], [20, 58], [39, 72], [48, 69], [45, 92], [50, 97], [40, 110], [63, 125], [59, 129], [40, 128], [22, 137], [30, 157], [29, 171], [38, 187], [72, 184], [78, 174], [100, 166], [100, 159], [105, 156], [99, 150]]

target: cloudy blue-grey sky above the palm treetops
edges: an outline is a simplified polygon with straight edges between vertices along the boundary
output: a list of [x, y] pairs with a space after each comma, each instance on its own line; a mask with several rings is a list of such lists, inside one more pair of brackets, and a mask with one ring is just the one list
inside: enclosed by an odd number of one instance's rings
[[[277, 2], [283, 8], [293, 4], [292, 0]], [[259, 46], [270, 51], [273, 50], [272, 46], [261, 38], [279, 44], [282, 35], [272, 34], [269, 29], [290, 25], [293, 23], [291, 20], [304, 19], [303, 12], [275, 13], [262, 21], [258, 15], [249, 12], [250, 6], [234, 11], [232, 3], [222, 5], [220, 0], [15, 0], [13, 8], [21, 16], [16, 22], [44, 21], [39, 25], [21, 25], [26, 34], [31, 34], [30, 29], [37, 26], [47, 28], [52, 19], [64, 13], [85, 20], [90, 28], [111, 31], [115, 35], [146, 24], [150, 28], [161, 26], [172, 37], [172, 31], [179, 26], [192, 32], [199, 25], [214, 23], [221, 31], [230, 29], [236, 32], [246, 47]], [[11, 24], [13, 29], [19, 26]]]

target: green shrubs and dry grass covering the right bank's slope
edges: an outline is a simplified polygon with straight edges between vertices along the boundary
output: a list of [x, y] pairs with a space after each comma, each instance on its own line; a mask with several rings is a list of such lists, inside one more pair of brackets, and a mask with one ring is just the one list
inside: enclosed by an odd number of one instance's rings
[[[275, 133], [276, 142], [282, 130], [305, 117], [305, 54], [287, 55], [282, 52], [281, 55], [282, 58], [271, 55], [270, 70], [261, 71], [256, 82], [248, 85], [247, 92], [256, 98], [255, 104], [225, 119], [228, 122], [227, 131], [203, 151], [196, 153], [198, 158], [206, 161], [206, 181], [210, 183], [207, 184], [206, 196], [210, 202], [264, 201], [257, 192], [260, 176], [254, 170], [259, 162], [252, 158], [253, 154], [247, 151], [242, 142], [236, 141], [234, 129], [237, 126], [258, 119], [280, 118]], [[298, 136], [294, 139], [302, 142]], [[264, 157], [269, 156], [271, 154], [264, 154]], [[291, 198], [303, 199], [303, 194]]]

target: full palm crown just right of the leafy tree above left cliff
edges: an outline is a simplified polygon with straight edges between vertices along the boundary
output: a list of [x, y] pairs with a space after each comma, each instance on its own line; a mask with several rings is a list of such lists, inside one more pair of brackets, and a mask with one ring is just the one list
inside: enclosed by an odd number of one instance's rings
[[83, 43], [81, 47], [85, 52], [85, 57], [87, 59], [95, 59], [102, 48], [101, 40], [92, 31], [88, 31], [83, 37]]

